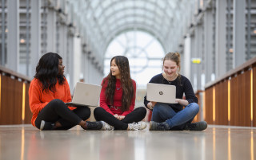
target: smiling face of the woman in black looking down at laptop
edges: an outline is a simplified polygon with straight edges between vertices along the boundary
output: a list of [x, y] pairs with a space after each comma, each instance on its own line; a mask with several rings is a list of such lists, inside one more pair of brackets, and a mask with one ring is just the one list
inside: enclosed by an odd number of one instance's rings
[[173, 60], [165, 60], [162, 68], [169, 80], [174, 80], [178, 76], [178, 65]]

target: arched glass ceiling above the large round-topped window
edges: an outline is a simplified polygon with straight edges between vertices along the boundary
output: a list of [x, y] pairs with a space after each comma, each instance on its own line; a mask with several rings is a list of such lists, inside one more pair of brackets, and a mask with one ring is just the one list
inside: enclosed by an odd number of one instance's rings
[[[191, 14], [185, 0], [66, 0], [74, 10], [81, 33], [98, 52], [105, 53], [114, 37], [127, 30], [143, 30], [160, 41], [165, 51], [177, 49]], [[86, 29], [86, 31], [82, 31]]]

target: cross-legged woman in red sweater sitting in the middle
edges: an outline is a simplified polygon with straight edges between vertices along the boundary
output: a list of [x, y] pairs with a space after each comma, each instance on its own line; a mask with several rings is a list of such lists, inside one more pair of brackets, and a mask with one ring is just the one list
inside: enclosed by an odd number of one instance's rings
[[95, 119], [103, 123], [102, 130], [142, 130], [146, 127], [146, 123], [139, 122], [144, 119], [146, 108], [134, 109], [135, 96], [136, 83], [130, 78], [128, 59], [113, 57], [110, 73], [102, 80], [101, 107], [94, 109]]

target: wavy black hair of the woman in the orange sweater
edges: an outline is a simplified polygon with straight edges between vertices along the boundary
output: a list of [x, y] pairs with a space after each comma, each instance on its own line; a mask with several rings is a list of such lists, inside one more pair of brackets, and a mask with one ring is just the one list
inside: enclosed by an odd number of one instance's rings
[[64, 84], [65, 76], [58, 74], [60, 59], [62, 60], [62, 57], [58, 53], [46, 53], [40, 58], [34, 78], [42, 83], [42, 92], [49, 92], [49, 90], [55, 92], [57, 80], [59, 84]]

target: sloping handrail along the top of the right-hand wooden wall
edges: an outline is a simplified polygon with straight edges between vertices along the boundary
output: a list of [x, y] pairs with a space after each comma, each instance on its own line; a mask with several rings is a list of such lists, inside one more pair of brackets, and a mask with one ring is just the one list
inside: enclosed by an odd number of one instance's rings
[[234, 76], [234, 75], [237, 74], [238, 72], [242, 72], [242, 71], [245, 70], [246, 68], [252, 67], [253, 64], [256, 64], [256, 57], [251, 58], [250, 60], [247, 60], [245, 63], [239, 65], [237, 68], [231, 69], [229, 72], [226, 72], [226, 74], [224, 74], [223, 76], [220, 76], [218, 79], [207, 83], [207, 84], [205, 85], [205, 89], [206, 89], [206, 88], [210, 88], [210, 87], [213, 86], [214, 84], [218, 84], [218, 82], [220, 82], [220, 81], [222, 81], [222, 80], [226, 80], [226, 79], [229, 78], [230, 76]]

